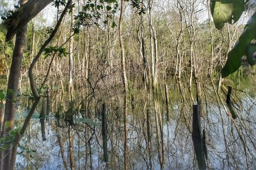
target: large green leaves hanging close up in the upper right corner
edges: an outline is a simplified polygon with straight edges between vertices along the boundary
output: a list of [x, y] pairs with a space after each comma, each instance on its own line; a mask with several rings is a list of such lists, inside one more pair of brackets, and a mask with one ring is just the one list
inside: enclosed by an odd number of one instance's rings
[[[244, 11], [243, 0], [220, 0], [211, 1], [211, 13], [214, 20], [214, 25], [217, 29], [222, 29], [225, 22], [234, 24], [239, 20]], [[226, 77], [231, 73], [234, 73], [241, 66], [242, 57], [246, 55], [248, 63], [253, 66], [256, 64], [255, 52], [256, 52], [256, 13], [248, 21], [244, 27], [244, 31], [239, 37], [232, 50], [228, 52], [228, 59], [221, 70], [222, 77]]]

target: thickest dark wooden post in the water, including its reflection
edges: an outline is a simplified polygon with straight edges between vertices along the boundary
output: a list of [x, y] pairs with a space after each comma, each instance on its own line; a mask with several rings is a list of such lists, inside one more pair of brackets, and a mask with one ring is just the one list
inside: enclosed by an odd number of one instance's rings
[[201, 124], [200, 124], [200, 109], [199, 105], [193, 105], [193, 131], [192, 140], [195, 148], [196, 159], [198, 168], [200, 170], [206, 169], [204, 148], [201, 137]]

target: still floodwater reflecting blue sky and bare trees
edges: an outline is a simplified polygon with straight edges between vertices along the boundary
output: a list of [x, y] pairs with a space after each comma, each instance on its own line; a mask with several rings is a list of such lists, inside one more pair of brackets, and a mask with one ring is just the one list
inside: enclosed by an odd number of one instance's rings
[[[205, 129], [207, 169], [256, 169], [256, 97], [253, 82], [241, 82], [232, 91], [232, 106], [237, 113], [235, 120], [229, 115], [225, 89], [219, 90], [217, 98], [211, 83], [202, 87], [201, 128]], [[166, 121], [164, 95], [159, 97], [159, 110], [163, 116], [163, 169], [198, 169], [191, 136], [195, 92], [189, 94], [189, 90], [184, 88], [186, 83], [182, 88], [177, 87], [177, 83], [168, 86], [169, 122]], [[148, 108], [151, 134], [148, 155], [143, 94], [143, 90], [129, 94], [129, 169], [149, 169], [150, 158], [152, 169], [161, 169], [154, 104]], [[48, 101], [44, 99], [45, 104], [38, 105], [29, 129], [20, 142], [17, 169], [71, 169], [72, 164], [75, 169], [124, 169], [122, 97], [122, 94], [118, 94], [101, 100], [97, 96], [90, 101], [89, 109], [84, 109], [86, 101], [83, 94], [77, 94], [77, 99], [70, 104], [67, 95], [51, 90]], [[28, 97], [21, 98], [15, 128], [22, 126], [31, 105]], [[108, 162], [103, 160], [100, 116], [103, 103], [108, 106]], [[44, 118], [40, 118], [42, 110], [46, 110]], [[70, 157], [74, 157], [74, 163]]]

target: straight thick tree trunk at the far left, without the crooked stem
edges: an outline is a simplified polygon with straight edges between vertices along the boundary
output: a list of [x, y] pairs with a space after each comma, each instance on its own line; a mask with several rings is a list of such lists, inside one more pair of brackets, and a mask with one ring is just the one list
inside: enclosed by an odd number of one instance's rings
[[[20, 4], [23, 6], [27, 0], [21, 0]], [[5, 111], [4, 111], [4, 122], [3, 122], [3, 130], [2, 130], [2, 137], [8, 136], [9, 132], [13, 129], [14, 125], [14, 118], [15, 118], [15, 106], [16, 106], [16, 99], [17, 99], [17, 91], [19, 85], [19, 78], [20, 78], [20, 70], [22, 65], [22, 58], [23, 58], [23, 51], [24, 45], [26, 41], [26, 31], [27, 31], [27, 24], [23, 24], [22, 27], [17, 30], [15, 46], [13, 49], [13, 57], [12, 57], [12, 64], [10, 69], [10, 74], [8, 78], [8, 87], [6, 93], [6, 104], [5, 104]], [[8, 147], [0, 156], [1, 160], [1, 167], [2, 169], [10, 169], [10, 156], [12, 147], [11, 143], [7, 144]]]

